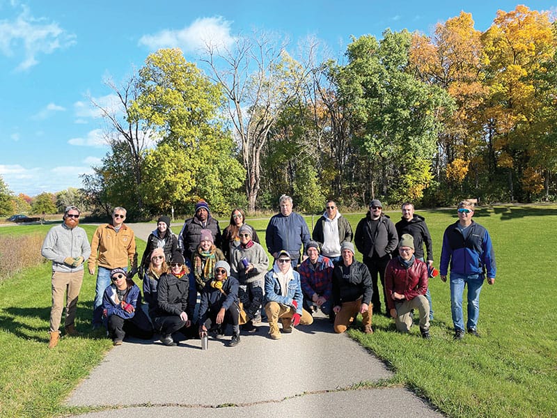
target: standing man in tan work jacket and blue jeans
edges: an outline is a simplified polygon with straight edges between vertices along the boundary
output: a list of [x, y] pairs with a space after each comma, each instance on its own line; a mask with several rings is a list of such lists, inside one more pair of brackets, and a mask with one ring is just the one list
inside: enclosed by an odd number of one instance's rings
[[127, 271], [128, 263], [132, 270], [130, 278], [137, 272], [137, 252], [134, 231], [124, 224], [125, 208], [114, 208], [111, 224], [100, 225], [91, 240], [91, 256], [88, 259], [89, 274], [97, 269], [95, 302], [93, 302], [93, 330], [102, 327], [102, 295], [110, 284], [110, 272], [115, 268]]

